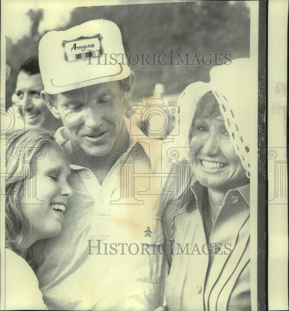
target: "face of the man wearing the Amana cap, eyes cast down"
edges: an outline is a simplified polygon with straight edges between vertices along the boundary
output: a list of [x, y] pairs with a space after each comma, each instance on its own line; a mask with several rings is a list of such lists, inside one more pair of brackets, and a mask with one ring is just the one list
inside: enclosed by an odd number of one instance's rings
[[104, 82], [57, 94], [53, 110], [72, 145], [89, 156], [104, 156], [122, 135], [124, 95], [119, 81]]

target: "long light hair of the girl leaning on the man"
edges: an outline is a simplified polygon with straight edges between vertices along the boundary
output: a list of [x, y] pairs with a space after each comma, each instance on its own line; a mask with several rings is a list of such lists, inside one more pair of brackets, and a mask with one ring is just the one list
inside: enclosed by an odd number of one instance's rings
[[45, 144], [58, 146], [53, 133], [43, 128], [14, 131], [6, 140], [5, 246], [23, 258], [26, 254], [20, 246], [23, 235], [31, 230], [31, 223], [21, 209], [19, 193], [36, 174], [36, 161], [45, 156]]

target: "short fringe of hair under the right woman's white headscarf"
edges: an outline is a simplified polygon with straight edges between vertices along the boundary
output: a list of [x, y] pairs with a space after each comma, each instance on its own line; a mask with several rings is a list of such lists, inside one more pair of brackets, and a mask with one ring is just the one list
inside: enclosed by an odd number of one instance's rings
[[209, 91], [205, 93], [200, 100], [198, 101], [197, 108], [194, 114], [194, 117], [192, 119], [192, 123], [190, 126], [189, 131], [189, 142], [192, 138], [193, 130], [195, 127], [195, 121], [197, 118], [203, 117], [203, 118], [209, 118], [209, 117], [217, 117], [220, 115], [220, 108], [219, 104], [213, 95], [212, 91]]

